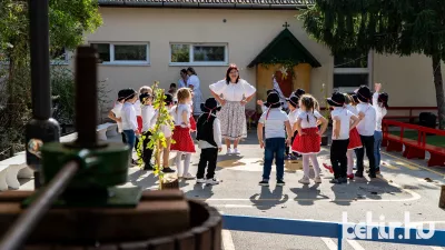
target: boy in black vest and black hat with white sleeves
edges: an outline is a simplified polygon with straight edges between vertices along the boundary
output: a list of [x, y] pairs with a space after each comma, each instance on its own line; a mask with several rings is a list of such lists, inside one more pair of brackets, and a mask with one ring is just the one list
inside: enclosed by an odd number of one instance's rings
[[[201, 154], [198, 163], [198, 172], [196, 173], [197, 183], [218, 184], [219, 181], [215, 178], [216, 162], [218, 152], [222, 150], [221, 144], [221, 126], [216, 112], [221, 109], [215, 98], [209, 98], [205, 103], [201, 103], [202, 114], [199, 116], [197, 122], [198, 146], [201, 149]], [[204, 179], [204, 173], [207, 167], [207, 176]]]

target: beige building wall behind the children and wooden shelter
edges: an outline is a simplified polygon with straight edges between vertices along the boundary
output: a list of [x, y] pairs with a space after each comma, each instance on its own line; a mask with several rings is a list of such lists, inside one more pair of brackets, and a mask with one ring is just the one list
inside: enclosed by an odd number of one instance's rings
[[[170, 42], [227, 42], [229, 62], [240, 68], [241, 78], [255, 84], [256, 69], [246, 66], [284, 29], [285, 22], [322, 63], [320, 68], [312, 70], [307, 91], [320, 99], [324, 96], [323, 83], [329, 94], [333, 90], [334, 59], [326, 47], [307, 36], [296, 19], [296, 10], [101, 8], [100, 13], [103, 26], [87, 36], [88, 42], [150, 43], [150, 66], [99, 67], [100, 79], [108, 79], [110, 99], [121, 88], [137, 89], [152, 84], [155, 80], [167, 88], [170, 82], [177, 82], [179, 70], [187, 66], [169, 66]], [[390, 106], [436, 106], [431, 59], [380, 54], [373, 58], [372, 78], [384, 84]], [[194, 68], [200, 78], [204, 96], [209, 97], [208, 86], [225, 77], [227, 66]], [[248, 107], [254, 108], [254, 102]]]

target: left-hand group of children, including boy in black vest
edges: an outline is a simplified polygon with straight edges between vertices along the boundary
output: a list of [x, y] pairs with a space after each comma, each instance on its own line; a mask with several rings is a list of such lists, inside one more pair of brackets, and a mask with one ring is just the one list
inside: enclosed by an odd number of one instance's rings
[[[170, 87], [170, 90], [172, 88]], [[170, 119], [175, 124], [161, 124], [160, 130], [166, 138], [166, 147], [161, 149], [162, 171], [175, 172], [169, 166], [170, 151], [176, 151], [176, 167], [178, 177], [185, 180], [192, 180], [195, 177], [189, 172], [191, 153], [195, 153], [195, 143], [191, 139], [192, 132], [197, 131], [197, 140], [201, 149], [198, 164], [197, 182], [217, 184], [215, 169], [218, 151], [221, 150], [221, 132], [216, 112], [220, 109], [214, 98], [207, 99], [200, 108], [204, 112], [198, 122], [192, 117], [192, 91], [189, 88], [165, 93], [165, 107]], [[176, 100], [175, 100], [176, 99]], [[141, 152], [144, 170], [154, 170], [151, 163], [152, 149], [148, 148], [151, 131], [158, 119], [158, 110], [152, 106], [154, 92], [150, 87], [141, 87], [139, 92], [134, 89], [123, 89], [118, 92], [118, 99], [113, 109], [109, 112], [109, 118], [118, 124], [118, 130], [122, 133], [122, 142], [130, 147], [130, 152], [135, 148]], [[142, 138], [142, 150], [138, 149], [139, 138]], [[175, 141], [175, 143], [171, 143]], [[136, 160], [132, 160], [137, 164]], [[208, 167], [207, 167], [208, 166]], [[204, 177], [207, 168], [207, 176]]]

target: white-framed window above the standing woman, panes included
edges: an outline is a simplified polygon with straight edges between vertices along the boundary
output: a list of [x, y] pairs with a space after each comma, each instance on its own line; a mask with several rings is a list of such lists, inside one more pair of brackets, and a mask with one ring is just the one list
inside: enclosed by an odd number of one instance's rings
[[171, 66], [226, 66], [227, 43], [170, 43]]

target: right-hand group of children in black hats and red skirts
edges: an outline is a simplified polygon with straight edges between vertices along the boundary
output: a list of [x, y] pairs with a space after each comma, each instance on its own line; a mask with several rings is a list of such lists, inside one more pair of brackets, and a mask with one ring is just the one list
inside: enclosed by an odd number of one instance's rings
[[[346, 183], [354, 177], [363, 178], [364, 154], [369, 161], [369, 178], [376, 178], [380, 166], [382, 119], [388, 108], [388, 94], [380, 93], [382, 84], [375, 84], [373, 94], [368, 87], [362, 86], [354, 94], [334, 92], [327, 102], [334, 110], [330, 162], [324, 164], [334, 173], [332, 183]], [[304, 176], [298, 181], [309, 184], [309, 161], [314, 167], [315, 183], [320, 183], [320, 168], [317, 154], [320, 151], [322, 136], [328, 121], [319, 112], [317, 100], [298, 89], [287, 98], [288, 113], [283, 109], [280, 94], [276, 90], [267, 91], [267, 102], [263, 106], [263, 116], [258, 122], [258, 140], [265, 148], [265, 162], [260, 186], [268, 186], [271, 163], [275, 158], [277, 168], [277, 186], [284, 186], [285, 154], [289, 158], [301, 156]], [[287, 137], [286, 137], [287, 136]], [[264, 140], [265, 138], [265, 140]], [[286, 152], [286, 148], [290, 150]], [[357, 171], [354, 169], [354, 152], [357, 157]]]

